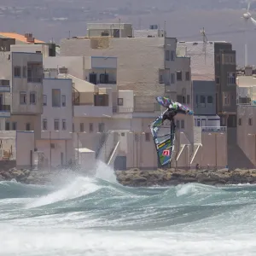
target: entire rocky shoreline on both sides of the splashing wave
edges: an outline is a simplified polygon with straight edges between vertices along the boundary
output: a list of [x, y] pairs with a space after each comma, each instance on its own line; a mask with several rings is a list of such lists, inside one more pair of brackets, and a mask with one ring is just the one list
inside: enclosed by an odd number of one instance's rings
[[[82, 175], [81, 172], [67, 172], [67, 170], [64, 173], [61, 170], [48, 172], [12, 168], [9, 171], [0, 171], [0, 181], [11, 181], [15, 179], [17, 182], [26, 184], [46, 184], [60, 181], [64, 174], [68, 174], [68, 177], [71, 177], [70, 175]], [[179, 169], [142, 171], [132, 169], [129, 171], [116, 171], [115, 174], [120, 184], [130, 187], [171, 186], [181, 183], [203, 183], [208, 185], [256, 183], [256, 170], [241, 169], [232, 171], [227, 169], [218, 171], [185, 171]]]

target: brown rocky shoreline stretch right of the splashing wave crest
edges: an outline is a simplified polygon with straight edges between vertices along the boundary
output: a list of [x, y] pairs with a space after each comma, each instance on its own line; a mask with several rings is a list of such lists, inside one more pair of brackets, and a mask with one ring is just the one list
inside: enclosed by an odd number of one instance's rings
[[170, 186], [181, 183], [203, 183], [224, 185], [239, 183], [256, 183], [256, 170], [228, 169], [213, 170], [156, 170], [140, 171], [137, 169], [116, 172], [117, 180], [125, 186], [148, 187]]

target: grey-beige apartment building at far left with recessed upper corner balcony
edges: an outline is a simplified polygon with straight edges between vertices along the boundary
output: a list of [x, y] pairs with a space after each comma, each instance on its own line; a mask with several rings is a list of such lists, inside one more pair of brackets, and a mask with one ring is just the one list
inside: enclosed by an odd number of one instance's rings
[[[43, 56], [40, 53], [2, 53], [1, 130], [35, 131], [40, 137], [43, 112]], [[11, 91], [11, 93], [10, 93]]]

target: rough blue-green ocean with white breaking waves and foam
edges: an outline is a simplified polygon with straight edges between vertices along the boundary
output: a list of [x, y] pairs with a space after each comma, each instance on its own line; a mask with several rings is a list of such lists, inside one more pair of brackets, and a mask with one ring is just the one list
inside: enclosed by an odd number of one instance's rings
[[128, 188], [96, 177], [0, 183], [0, 255], [256, 255], [256, 186]]

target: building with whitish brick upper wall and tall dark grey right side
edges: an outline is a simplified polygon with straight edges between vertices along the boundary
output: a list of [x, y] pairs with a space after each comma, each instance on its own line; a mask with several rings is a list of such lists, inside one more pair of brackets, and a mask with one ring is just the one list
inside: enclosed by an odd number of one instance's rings
[[232, 44], [179, 42], [177, 45], [180, 55], [191, 58], [192, 80], [215, 81], [220, 125], [236, 127], [236, 50]]

